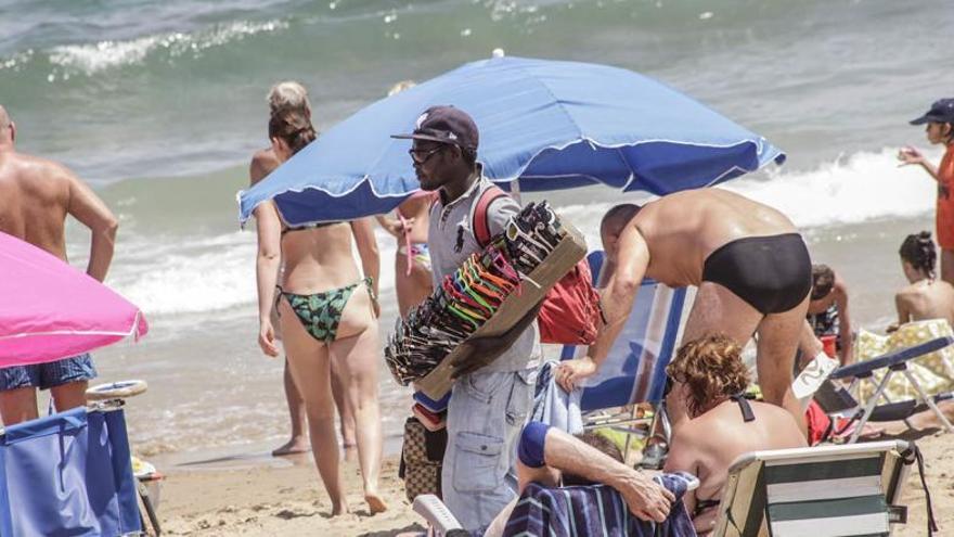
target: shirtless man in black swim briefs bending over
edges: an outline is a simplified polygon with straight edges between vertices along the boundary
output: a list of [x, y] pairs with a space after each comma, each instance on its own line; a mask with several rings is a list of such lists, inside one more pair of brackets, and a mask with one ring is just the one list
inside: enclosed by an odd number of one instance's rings
[[[725, 190], [691, 190], [642, 207], [618, 205], [603, 218], [601, 234], [610, 271], [602, 296], [608, 324], [588, 356], [560, 363], [556, 378], [564, 388], [596, 372], [626, 324], [640, 283], [653, 278], [673, 287], [698, 286], [683, 341], [721, 332], [745, 345], [758, 333], [762, 394], [804, 426], [791, 372], [812, 264], [788, 218]], [[686, 413], [681, 406], [668, 410], [673, 423]]]

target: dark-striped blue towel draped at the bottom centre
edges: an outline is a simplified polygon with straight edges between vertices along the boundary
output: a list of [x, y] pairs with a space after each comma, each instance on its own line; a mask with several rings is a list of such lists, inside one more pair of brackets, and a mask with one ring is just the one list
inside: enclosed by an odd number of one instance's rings
[[619, 493], [607, 485], [546, 488], [531, 483], [514, 508], [504, 536], [585, 537], [591, 535], [695, 537], [682, 496], [686, 481], [679, 474], [661, 476], [676, 496], [669, 517], [657, 524], [636, 519]]

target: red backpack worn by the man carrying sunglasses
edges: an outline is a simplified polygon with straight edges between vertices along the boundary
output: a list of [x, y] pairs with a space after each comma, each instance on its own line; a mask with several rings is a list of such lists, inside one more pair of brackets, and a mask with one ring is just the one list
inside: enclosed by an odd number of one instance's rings
[[[487, 223], [487, 209], [495, 200], [507, 195], [497, 187], [485, 190], [470, 218], [470, 229], [480, 247], [490, 244], [490, 226]], [[590, 264], [581, 259], [546, 292], [537, 321], [540, 324], [540, 341], [562, 345], [590, 345], [596, 341], [596, 333], [603, 320], [600, 309], [600, 295], [593, 289]]]

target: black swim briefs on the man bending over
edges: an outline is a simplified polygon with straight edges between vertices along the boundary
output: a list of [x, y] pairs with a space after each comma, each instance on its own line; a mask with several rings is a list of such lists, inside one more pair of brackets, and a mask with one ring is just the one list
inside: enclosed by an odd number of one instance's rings
[[702, 281], [725, 286], [763, 315], [798, 306], [812, 290], [812, 260], [798, 233], [747, 236], [709, 254]]

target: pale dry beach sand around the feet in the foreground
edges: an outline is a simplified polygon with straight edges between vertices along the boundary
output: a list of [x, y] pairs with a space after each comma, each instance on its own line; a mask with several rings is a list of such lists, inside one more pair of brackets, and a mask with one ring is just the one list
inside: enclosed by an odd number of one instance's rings
[[[938, 535], [954, 532], [954, 458], [951, 436], [918, 438], [926, 462], [928, 486]], [[262, 536], [392, 536], [423, 530], [422, 519], [411, 511], [397, 476], [397, 457], [386, 459], [382, 493], [390, 509], [369, 515], [361, 496], [357, 465], [344, 465], [352, 514], [332, 519], [331, 504], [311, 464], [310, 456], [271, 459], [265, 456], [223, 456], [193, 459], [163, 468], [159, 517], [168, 535]], [[894, 536], [927, 535], [925, 497], [915, 468], [904, 494], [906, 525], [894, 526]]]

